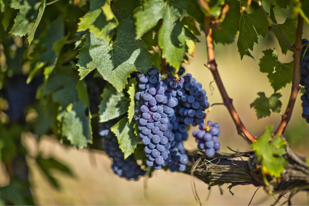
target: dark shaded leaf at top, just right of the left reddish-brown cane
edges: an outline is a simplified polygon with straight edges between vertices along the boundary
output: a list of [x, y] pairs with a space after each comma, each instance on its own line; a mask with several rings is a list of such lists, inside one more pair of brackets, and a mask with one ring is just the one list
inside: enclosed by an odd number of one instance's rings
[[239, 2], [231, 0], [229, 6], [230, 9], [220, 24], [220, 30], [213, 29], [212, 36], [216, 43], [231, 44], [237, 34], [240, 16]]

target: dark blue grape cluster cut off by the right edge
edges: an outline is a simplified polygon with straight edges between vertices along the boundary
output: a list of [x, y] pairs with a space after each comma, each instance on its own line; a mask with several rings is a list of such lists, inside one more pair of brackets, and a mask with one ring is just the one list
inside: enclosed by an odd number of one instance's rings
[[[302, 44], [309, 43], [307, 39], [302, 40]], [[303, 101], [302, 107], [303, 107], [303, 114], [302, 117], [306, 119], [307, 123], [309, 123], [309, 49], [307, 49], [305, 55], [305, 48], [302, 50], [303, 61], [301, 61], [301, 76], [300, 76], [300, 85], [304, 86], [306, 89], [305, 94], [303, 94], [300, 98]]]

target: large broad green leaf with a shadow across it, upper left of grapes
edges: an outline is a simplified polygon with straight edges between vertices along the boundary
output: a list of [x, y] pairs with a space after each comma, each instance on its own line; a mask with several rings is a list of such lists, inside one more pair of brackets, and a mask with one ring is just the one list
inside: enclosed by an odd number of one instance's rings
[[121, 91], [132, 71], [147, 73], [152, 66], [151, 54], [141, 40], [135, 40], [135, 26], [129, 17], [117, 27], [117, 37], [112, 43], [87, 33], [86, 42], [77, 58], [81, 79], [93, 69], [98, 69], [105, 80]]

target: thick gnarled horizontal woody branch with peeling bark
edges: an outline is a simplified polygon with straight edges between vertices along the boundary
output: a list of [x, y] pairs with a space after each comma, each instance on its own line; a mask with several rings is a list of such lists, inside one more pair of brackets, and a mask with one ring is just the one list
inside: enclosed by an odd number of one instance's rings
[[[269, 181], [265, 185], [259, 161], [252, 151], [236, 153], [216, 153], [207, 158], [200, 151], [187, 151], [189, 162], [184, 173], [193, 175], [210, 187], [231, 184], [231, 189], [237, 185], [252, 184], [255, 187], [264, 187], [269, 193], [280, 194], [289, 191], [309, 191], [309, 176], [306, 157], [296, 154], [289, 146], [286, 147], [284, 158], [288, 162], [285, 172], [277, 181], [266, 175]], [[243, 160], [248, 158], [248, 160]], [[241, 159], [241, 160], [239, 160]]]

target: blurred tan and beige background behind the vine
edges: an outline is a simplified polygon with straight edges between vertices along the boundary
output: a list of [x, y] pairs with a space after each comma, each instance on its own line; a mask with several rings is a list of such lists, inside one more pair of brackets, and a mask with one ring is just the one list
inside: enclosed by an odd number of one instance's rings
[[[281, 13], [282, 11], [277, 11]], [[287, 11], [288, 12], [288, 11]], [[278, 23], [283, 23], [285, 19], [278, 17]], [[304, 38], [309, 35], [308, 25], [305, 24]], [[194, 58], [190, 58], [190, 65], [184, 65], [186, 71], [191, 73], [198, 82], [203, 84], [207, 90], [209, 102], [221, 103], [222, 99], [215, 83], [214, 90], [210, 89], [210, 82], [213, 77], [203, 64], [206, 60], [205, 40], [199, 37], [200, 43], [196, 46]], [[250, 108], [250, 103], [257, 97], [256, 93], [264, 91], [266, 96], [273, 94], [273, 89], [267, 74], [259, 71], [259, 59], [262, 51], [267, 48], [276, 48], [279, 51], [281, 62], [290, 62], [292, 53], [282, 55], [277, 40], [272, 34], [266, 38], [260, 38], [259, 44], [255, 45], [252, 55], [255, 60], [244, 57], [240, 60], [236, 42], [231, 45], [215, 45], [216, 61], [219, 73], [222, 77], [226, 90], [234, 100], [236, 110], [247, 129], [256, 137], [264, 131], [266, 125], [272, 124], [276, 128], [281, 120], [280, 114], [272, 113], [270, 117], [257, 120], [255, 111]], [[284, 112], [290, 95], [290, 85], [279, 90], [283, 95], [281, 101], [282, 113]], [[299, 95], [300, 96], [300, 95]], [[301, 117], [301, 101], [298, 97], [294, 114], [288, 125], [285, 137], [292, 148], [300, 154], [309, 156], [309, 125]], [[221, 125], [220, 142], [222, 152], [231, 152], [227, 148], [245, 151], [250, 150], [250, 146], [237, 135], [235, 125], [228, 111], [224, 106], [214, 106], [208, 115], [208, 120], [219, 122]], [[195, 128], [191, 128], [191, 134]], [[65, 163], [74, 173], [70, 177], [55, 171], [53, 176], [60, 184], [57, 190], [48, 182], [44, 173], [33, 162], [32, 158], [27, 158], [30, 165], [30, 181], [32, 182], [32, 193], [36, 204], [39, 205], [198, 205], [192, 189], [191, 177], [187, 174], [171, 173], [159, 170], [153, 173], [153, 177], [142, 177], [138, 181], [127, 181], [119, 178], [111, 170], [111, 160], [102, 151], [83, 149], [77, 150], [74, 147], [61, 145], [53, 137], [44, 136], [40, 142], [37, 137], [30, 133], [23, 134], [23, 143], [29, 152], [34, 156], [42, 153], [45, 158], [54, 157]], [[196, 144], [192, 136], [185, 142], [187, 149], [195, 149]], [[8, 183], [7, 174], [1, 167], [0, 184]], [[232, 195], [227, 189], [228, 185], [223, 185], [220, 194], [219, 187], [208, 189], [208, 185], [195, 179], [197, 193], [203, 205], [248, 205], [256, 187], [236, 186], [232, 188]], [[211, 194], [209, 195], [209, 193]], [[207, 196], [209, 198], [207, 199]], [[277, 195], [275, 196], [277, 198]], [[207, 199], [207, 200], [206, 200]], [[283, 197], [279, 201], [284, 202]], [[268, 195], [260, 189], [256, 192], [251, 205], [269, 205], [275, 201], [272, 195]], [[294, 196], [292, 203], [295, 205], [308, 205], [308, 194], [301, 192]]]

